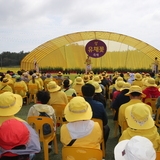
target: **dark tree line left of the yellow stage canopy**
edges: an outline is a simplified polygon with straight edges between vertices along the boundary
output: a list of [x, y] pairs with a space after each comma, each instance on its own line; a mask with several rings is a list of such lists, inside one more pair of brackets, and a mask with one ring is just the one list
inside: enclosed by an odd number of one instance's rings
[[9, 66], [20, 66], [21, 60], [28, 54], [29, 52], [20, 51], [16, 52], [2, 52], [0, 54], [0, 66], [9, 67]]

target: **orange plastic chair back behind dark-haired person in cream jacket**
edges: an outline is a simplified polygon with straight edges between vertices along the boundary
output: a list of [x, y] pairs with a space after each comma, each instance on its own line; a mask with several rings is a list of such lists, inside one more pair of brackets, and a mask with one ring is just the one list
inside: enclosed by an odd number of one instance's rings
[[51, 134], [54, 134], [54, 122], [49, 117], [42, 117], [42, 116], [31, 116], [28, 117], [28, 123], [36, 130], [39, 134], [40, 141], [42, 142], [45, 138], [43, 134], [44, 124], [50, 125]]

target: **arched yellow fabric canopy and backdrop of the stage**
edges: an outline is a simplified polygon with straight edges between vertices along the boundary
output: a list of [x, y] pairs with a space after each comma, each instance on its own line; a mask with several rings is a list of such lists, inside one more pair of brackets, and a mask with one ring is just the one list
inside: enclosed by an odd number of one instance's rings
[[85, 45], [99, 39], [107, 45], [107, 52], [100, 58], [92, 58], [93, 68], [151, 68], [154, 58], [160, 59], [160, 51], [133, 37], [103, 31], [86, 31], [67, 34], [31, 51], [22, 61], [21, 69], [39, 67], [85, 68]]

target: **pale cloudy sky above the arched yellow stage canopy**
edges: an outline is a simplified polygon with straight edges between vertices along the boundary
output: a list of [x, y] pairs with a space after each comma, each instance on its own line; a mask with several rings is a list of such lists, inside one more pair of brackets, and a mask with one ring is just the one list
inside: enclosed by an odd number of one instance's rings
[[124, 34], [160, 50], [160, 0], [0, 0], [0, 53], [84, 31]]

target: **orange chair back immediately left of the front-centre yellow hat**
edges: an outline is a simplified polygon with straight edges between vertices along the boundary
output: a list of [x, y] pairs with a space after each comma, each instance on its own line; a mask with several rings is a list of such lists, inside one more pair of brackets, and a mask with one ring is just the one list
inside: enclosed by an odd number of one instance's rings
[[57, 123], [63, 124], [64, 122], [64, 108], [66, 104], [52, 104], [56, 113]]

